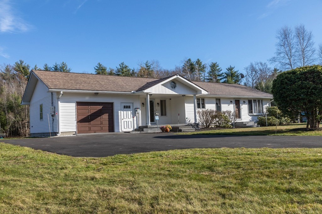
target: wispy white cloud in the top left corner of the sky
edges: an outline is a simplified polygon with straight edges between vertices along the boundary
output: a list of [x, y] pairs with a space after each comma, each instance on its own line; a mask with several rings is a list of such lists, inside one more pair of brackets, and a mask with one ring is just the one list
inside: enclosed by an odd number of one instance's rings
[[14, 12], [9, 0], [0, 0], [0, 32], [19, 33], [32, 28]]

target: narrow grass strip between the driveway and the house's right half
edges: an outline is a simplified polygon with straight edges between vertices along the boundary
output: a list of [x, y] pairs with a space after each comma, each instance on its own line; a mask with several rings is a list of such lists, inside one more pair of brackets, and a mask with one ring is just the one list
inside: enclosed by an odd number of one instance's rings
[[[298, 135], [298, 136], [322, 136], [322, 131], [299, 131], [296, 129], [306, 128], [306, 124], [289, 124], [277, 126], [275, 134], [275, 126], [261, 126], [257, 128], [235, 128], [220, 129], [208, 131], [196, 131], [178, 134], [210, 134], [210, 135]], [[295, 130], [294, 130], [295, 129]]]

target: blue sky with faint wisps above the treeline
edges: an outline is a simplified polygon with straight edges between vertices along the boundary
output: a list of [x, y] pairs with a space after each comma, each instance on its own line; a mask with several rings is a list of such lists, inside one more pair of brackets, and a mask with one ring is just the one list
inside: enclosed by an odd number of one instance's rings
[[92, 73], [98, 62], [133, 68], [155, 59], [171, 69], [200, 58], [243, 72], [274, 55], [283, 25], [304, 24], [322, 43], [321, 8], [321, 0], [0, 0], [0, 64], [65, 61]]

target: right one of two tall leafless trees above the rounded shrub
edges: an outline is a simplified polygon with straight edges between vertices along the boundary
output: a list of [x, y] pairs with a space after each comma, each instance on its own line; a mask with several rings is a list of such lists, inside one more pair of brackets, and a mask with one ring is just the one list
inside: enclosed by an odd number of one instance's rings
[[315, 48], [312, 31], [305, 29], [304, 25], [295, 27], [296, 54], [300, 66], [311, 65], [315, 61]]

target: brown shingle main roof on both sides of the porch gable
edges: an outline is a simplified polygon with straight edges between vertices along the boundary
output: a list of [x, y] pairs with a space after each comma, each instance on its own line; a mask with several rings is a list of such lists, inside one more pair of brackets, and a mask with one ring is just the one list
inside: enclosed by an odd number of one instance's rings
[[[148, 89], [163, 79], [98, 75], [87, 73], [63, 73], [52, 71], [33, 71], [49, 89], [94, 90], [94, 91], [141, 91]], [[243, 85], [192, 81], [207, 90], [211, 95], [273, 97], [271, 94]]]

